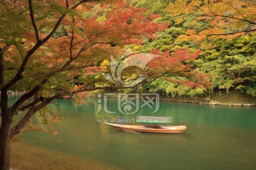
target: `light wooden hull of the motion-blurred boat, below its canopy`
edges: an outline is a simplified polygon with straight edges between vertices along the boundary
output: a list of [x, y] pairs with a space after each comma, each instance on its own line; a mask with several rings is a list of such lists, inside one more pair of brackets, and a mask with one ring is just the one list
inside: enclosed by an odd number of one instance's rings
[[124, 130], [126, 132], [155, 132], [155, 133], [182, 133], [186, 130], [185, 125], [179, 126], [147, 126], [147, 125], [121, 125], [115, 123], [105, 123], [117, 130]]

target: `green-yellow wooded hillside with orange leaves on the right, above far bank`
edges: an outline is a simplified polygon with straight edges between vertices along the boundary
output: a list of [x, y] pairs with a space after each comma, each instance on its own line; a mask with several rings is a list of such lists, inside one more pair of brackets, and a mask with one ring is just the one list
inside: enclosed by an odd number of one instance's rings
[[[209, 2], [209, 1], [208, 1]], [[134, 45], [139, 52], [157, 49], [174, 53], [176, 49], [201, 50], [191, 67], [209, 75], [210, 88], [198, 89], [166, 79], [156, 79], [142, 86], [143, 91], [170, 96], [196, 96], [213, 91], [235, 90], [256, 96], [256, 37], [254, 1], [130, 1], [161, 17], [156, 22], [169, 27], [157, 33], [154, 40]], [[191, 4], [191, 8], [188, 6]], [[195, 6], [200, 6], [196, 8]], [[193, 7], [193, 8], [192, 8]], [[181, 79], [181, 77], [175, 77]]]

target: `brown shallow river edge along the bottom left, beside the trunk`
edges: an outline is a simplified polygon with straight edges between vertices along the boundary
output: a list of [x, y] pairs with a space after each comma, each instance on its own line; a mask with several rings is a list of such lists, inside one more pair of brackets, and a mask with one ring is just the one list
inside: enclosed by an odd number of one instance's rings
[[10, 170], [122, 170], [121, 168], [95, 159], [82, 158], [76, 155], [56, 152], [38, 145], [28, 145], [26, 142], [11, 144]]

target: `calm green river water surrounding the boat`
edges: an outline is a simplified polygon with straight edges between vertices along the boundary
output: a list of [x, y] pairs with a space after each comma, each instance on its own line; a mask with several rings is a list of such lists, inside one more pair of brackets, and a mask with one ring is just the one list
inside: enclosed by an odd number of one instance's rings
[[[114, 111], [117, 100], [110, 100], [109, 108]], [[97, 119], [110, 115], [96, 113], [96, 99], [86, 99], [82, 106], [72, 101], [56, 102], [50, 110], [63, 115], [62, 123], [53, 124], [58, 135], [25, 132], [21, 138], [24, 148], [43, 149], [41, 155], [46, 160], [47, 154], [55, 152], [73, 159], [78, 169], [88, 166], [80, 161], [88, 159], [104, 164], [103, 169], [255, 169], [256, 108], [161, 102], [154, 116], [169, 116], [173, 125], [187, 125], [188, 130], [180, 135], [134, 134], [97, 123]], [[137, 115], [149, 116], [149, 112], [111, 116]], [[35, 117], [33, 121], [40, 120]]]

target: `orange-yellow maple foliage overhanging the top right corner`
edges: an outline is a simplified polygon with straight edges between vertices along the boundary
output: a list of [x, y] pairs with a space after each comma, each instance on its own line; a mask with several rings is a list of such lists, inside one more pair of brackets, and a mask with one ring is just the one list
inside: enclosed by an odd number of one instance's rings
[[187, 30], [187, 40], [201, 41], [205, 38], [232, 39], [256, 30], [255, 1], [241, 0], [178, 0], [170, 3], [167, 12], [176, 16], [176, 21], [182, 23], [188, 16], [194, 16], [191, 24], [198, 21], [209, 23], [211, 28], [196, 33]]

